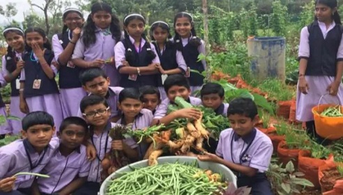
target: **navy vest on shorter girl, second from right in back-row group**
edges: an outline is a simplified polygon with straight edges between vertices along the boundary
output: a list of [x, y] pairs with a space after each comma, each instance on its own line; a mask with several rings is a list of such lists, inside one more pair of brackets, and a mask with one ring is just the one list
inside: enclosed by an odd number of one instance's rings
[[[176, 69], [178, 68], [178, 62], [176, 61], [176, 46], [172, 42], [167, 42], [165, 44], [165, 51], [160, 52], [160, 48], [156, 42], [153, 42], [158, 53], [158, 58], [160, 58], [160, 64], [164, 70]], [[162, 87], [161, 74], [158, 74], [158, 87]]]

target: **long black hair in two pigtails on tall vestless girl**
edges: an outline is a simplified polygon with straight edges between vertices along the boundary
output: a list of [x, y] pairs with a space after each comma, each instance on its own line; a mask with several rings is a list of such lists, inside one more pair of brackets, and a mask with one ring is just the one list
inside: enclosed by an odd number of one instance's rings
[[112, 13], [112, 8], [107, 3], [97, 2], [92, 5], [91, 14], [89, 14], [86, 25], [84, 25], [82, 40], [86, 48], [91, 46], [91, 44], [96, 43], [96, 24], [93, 22], [92, 15], [98, 11], [109, 12], [112, 17], [111, 24], [109, 24], [109, 31], [112, 33], [112, 38], [116, 40], [116, 42], [121, 40], [121, 26], [118, 17]]

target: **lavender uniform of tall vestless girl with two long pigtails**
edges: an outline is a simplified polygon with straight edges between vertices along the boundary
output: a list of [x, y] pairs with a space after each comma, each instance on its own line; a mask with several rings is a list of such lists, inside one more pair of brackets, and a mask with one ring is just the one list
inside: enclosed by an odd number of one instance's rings
[[[84, 46], [83, 36], [81, 35], [75, 45], [72, 59], [82, 58], [83, 60], [90, 62], [97, 59], [107, 60], [114, 57], [113, 48], [119, 40], [113, 39], [112, 33], [109, 29], [102, 30], [96, 27], [95, 33], [96, 42], [88, 47]], [[113, 64], [104, 64], [101, 68], [111, 80], [109, 85], [112, 87], [119, 86], [120, 75], [116, 67]]]

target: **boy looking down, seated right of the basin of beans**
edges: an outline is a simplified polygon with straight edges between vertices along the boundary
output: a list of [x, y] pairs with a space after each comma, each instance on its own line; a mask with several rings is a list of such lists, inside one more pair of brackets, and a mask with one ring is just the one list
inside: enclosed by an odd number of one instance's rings
[[237, 186], [252, 187], [252, 195], [272, 195], [265, 171], [268, 170], [273, 144], [254, 125], [259, 121], [257, 106], [252, 99], [231, 101], [227, 110], [232, 128], [220, 133], [216, 154], [198, 155], [201, 161], [211, 161], [229, 167], [238, 178]]

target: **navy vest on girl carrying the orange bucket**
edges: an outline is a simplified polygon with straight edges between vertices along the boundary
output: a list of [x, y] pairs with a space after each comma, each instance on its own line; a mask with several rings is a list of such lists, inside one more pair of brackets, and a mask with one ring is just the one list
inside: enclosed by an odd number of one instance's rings
[[305, 75], [336, 76], [337, 51], [342, 39], [342, 26], [336, 24], [323, 38], [317, 21], [307, 26], [309, 32], [310, 58]]

